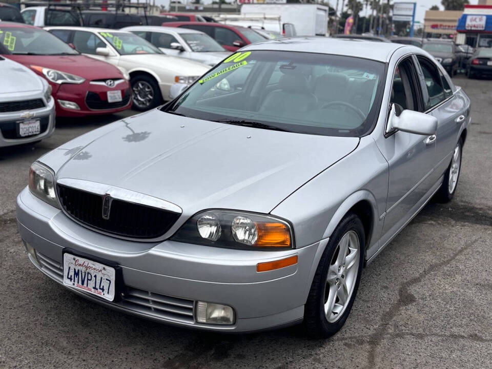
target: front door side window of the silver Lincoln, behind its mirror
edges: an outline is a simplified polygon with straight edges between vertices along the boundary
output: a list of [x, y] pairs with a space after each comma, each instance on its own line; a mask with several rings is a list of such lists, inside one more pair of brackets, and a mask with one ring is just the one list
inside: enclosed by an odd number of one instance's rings
[[395, 105], [396, 115], [403, 110], [418, 111], [415, 71], [411, 58], [406, 58], [396, 67], [393, 74], [391, 103]]

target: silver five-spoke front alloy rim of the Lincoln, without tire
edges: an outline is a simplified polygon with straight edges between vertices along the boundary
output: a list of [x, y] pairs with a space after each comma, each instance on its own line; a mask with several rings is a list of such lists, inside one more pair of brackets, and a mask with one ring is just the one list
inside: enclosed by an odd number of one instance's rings
[[348, 231], [338, 242], [326, 275], [324, 313], [330, 323], [343, 315], [354, 292], [359, 273], [360, 241], [355, 231]]

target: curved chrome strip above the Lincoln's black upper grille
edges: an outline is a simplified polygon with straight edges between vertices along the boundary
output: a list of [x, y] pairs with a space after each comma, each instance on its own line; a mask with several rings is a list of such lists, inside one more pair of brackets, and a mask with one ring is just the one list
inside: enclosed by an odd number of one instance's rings
[[159, 199], [154, 196], [127, 190], [121, 187], [105, 185], [104, 183], [92, 182], [75, 178], [56, 178], [55, 182], [76, 190], [81, 190], [96, 195], [110, 195], [113, 199], [144, 205], [151, 208], [166, 210], [176, 214], [182, 214], [182, 209], [176, 204]]

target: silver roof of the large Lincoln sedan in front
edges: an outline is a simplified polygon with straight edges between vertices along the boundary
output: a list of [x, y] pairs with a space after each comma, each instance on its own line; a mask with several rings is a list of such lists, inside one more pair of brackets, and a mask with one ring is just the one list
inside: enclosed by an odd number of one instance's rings
[[411, 45], [394, 43], [379, 43], [374, 47], [374, 42], [359, 39], [340, 39], [323, 36], [299, 36], [290, 38], [277, 38], [265, 40], [248, 45], [241, 50], [272, 50], [311, 52], [319, 54], [345, 55], [364, 59], [372, 59], [386, 62], [398, 49], [405, 48], [408, 52], [422, 50]]

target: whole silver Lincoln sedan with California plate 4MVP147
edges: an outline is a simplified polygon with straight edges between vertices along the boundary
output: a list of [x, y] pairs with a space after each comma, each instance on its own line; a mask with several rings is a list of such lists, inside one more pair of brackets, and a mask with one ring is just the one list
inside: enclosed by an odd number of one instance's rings
[[335, 334], [362, 268], [453, 198], [470, 121], [428, 53], [374, 45], [250, 45], [166, 106], [40, 157], [17, 198], [30, 260], [161, 322]]

